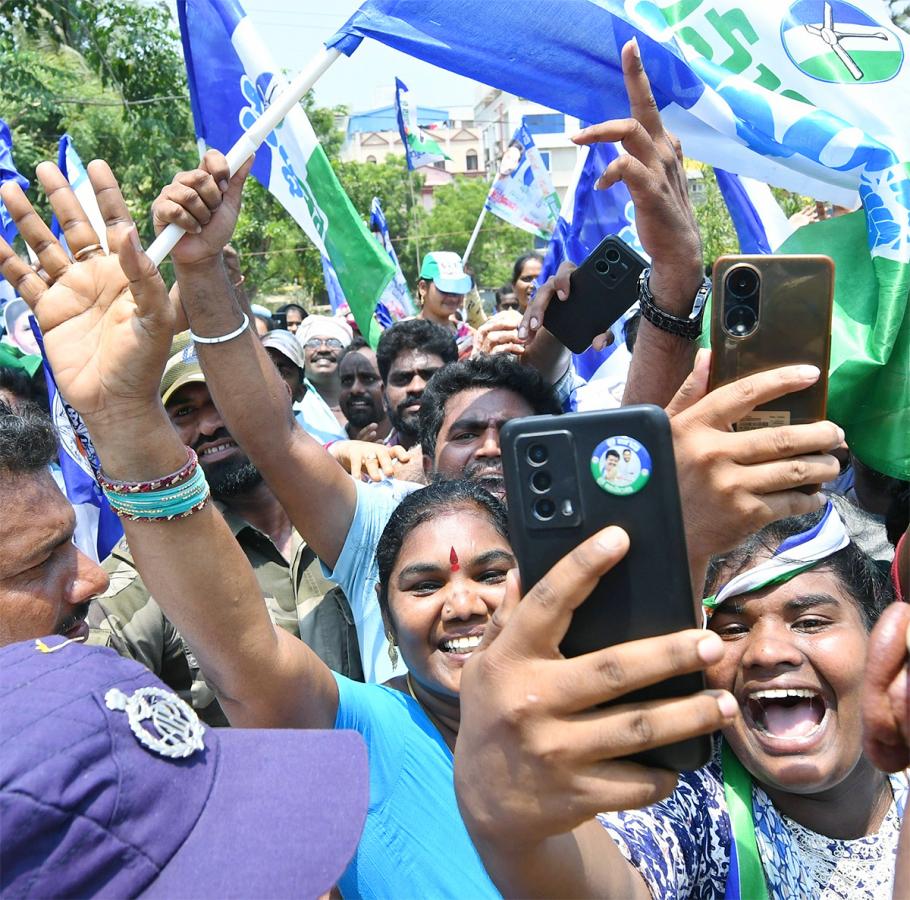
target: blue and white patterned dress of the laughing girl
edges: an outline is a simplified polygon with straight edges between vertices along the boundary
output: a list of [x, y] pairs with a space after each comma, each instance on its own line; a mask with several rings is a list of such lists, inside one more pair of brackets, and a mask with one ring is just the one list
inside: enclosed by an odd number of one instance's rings
[[[894, 801], [876, 834], [841, 841], [781, 815], [752, 787], [759, 855], [771, 900], [881, 900], [891, 896], [894, 859], [907, 797], [905, 774], [891, 776]], [[720, 761], [680, 775], [666, 800], [598, 816], [655, 898], [723, 900], [733, 831]]]

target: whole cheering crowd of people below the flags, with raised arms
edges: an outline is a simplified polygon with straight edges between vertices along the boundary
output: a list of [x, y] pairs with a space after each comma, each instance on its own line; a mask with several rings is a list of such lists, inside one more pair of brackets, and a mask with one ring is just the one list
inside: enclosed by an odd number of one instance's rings
[[[705, 261], [682, 157], [631, 44], [623, 66], [631, 117], [578, 141], [623, 141], [602, 181], [686, 318]], [[819, 370], [709, 390], [709, 350], [635, 321], [623, 404], [669, 420], [697, 610], [565, 658], [630, 539], [608, 525], [521, 584], [500, 431], [577, 407], [542, 325], [574, 266], [537, 286], [520, 257], [487, 318], [461, 258], [428, 253], [419, 315], [373, 348], [250, 303], [228, 245], [248, 171], [212, 150], [162, 190], [179, 291], [103, 161], [108, 252], [53, 164], [65, 246], [2, 189], [38, 263], [0, 242], [0, 272], [124, 530], [100, 564], [74, 545], [40, 369], [0, 367], [4, 896], [906, 896], [908, 484], [835, 422], [734, 428]], [[638, 477], [609, 452], [608, 480]], [[628, 699], [691, 673], [704, 690]], [[705, 735], [696, 771], [641, 759]]]

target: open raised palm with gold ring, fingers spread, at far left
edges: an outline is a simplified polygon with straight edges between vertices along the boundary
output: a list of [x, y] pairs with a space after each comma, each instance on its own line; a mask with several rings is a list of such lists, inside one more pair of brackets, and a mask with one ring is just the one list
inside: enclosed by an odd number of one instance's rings
[[52, 163], [38, 180], [61, 223], [66, 250], [14, 182], [3, 188], [19, 233], [38, 254], [42, 277], [0, 239], [0, 272], [31, 307], [60, 392], [87, 420], [113, 424], [158, 404], [158, 385], [173, 336], [175, 311], [107, 163], [89, 178], [107, 226], [105, 254], [94, 228]]

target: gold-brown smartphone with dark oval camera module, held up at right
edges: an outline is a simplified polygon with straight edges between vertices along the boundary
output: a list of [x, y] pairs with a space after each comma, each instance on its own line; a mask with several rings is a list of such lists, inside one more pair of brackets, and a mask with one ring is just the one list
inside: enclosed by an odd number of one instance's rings
[[811, 387], [757, 407], [737, 430], [825, 418], [834, 262], [827, 256], [722, 256], [714, 264], [710, 389], [779, 366], [818, 366]]

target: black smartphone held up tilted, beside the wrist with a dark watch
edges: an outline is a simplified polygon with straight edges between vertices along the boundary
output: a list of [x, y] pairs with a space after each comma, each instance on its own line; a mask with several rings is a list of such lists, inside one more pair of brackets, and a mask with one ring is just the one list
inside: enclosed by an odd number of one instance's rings
[[622, 238], [605, 237], [570, 276], [566, 300], [552, 300], [544, 327], [573, 353], [584, 353], [638, 300], [638, 277], [648, 265]]

